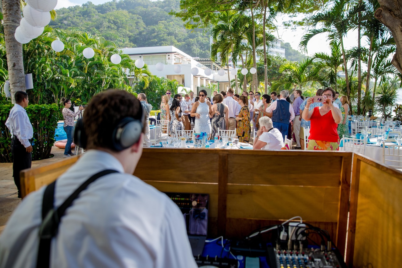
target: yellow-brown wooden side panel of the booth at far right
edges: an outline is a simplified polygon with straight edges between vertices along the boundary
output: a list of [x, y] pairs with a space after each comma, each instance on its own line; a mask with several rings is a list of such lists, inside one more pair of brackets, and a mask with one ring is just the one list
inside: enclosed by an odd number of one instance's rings
[[361, 162], [353, 266], [402, 261], [402, 173]]

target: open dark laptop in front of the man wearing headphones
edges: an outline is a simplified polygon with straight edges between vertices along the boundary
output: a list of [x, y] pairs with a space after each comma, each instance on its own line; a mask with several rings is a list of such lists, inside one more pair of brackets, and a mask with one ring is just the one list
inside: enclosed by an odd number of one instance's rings
[[209, 194], [165, 193], [180, 208], [186, 221], [193, 256], [201, 256], [207, 239]]

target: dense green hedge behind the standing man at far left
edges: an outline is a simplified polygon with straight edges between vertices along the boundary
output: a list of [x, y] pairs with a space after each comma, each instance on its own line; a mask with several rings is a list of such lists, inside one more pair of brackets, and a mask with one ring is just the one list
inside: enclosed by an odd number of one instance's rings
[[[12, 162], [10, 131], [5, 126], [11, 108], [12, 105], [0, 105], [0, 162], [2, 163]], [[33, 126], [32, 160], [47, 159], [55, 142], [54, 134], [59, 107], [55, 103], [50, 105], [33, 104], [28, 105], [26, 110]]]

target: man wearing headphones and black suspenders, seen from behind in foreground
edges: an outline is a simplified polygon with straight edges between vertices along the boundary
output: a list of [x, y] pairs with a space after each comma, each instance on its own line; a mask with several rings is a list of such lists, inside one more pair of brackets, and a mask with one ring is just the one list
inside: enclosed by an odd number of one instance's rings
[[[127, 91], [107, 90], [90, 100], [74, 137], [86, 153], [16, 208], [0, 237], [0, 268], [197, 267], [178, 206], [132, 175], [142, 154], [144, 121], [139, 100]], [[94, 179], [55, 214], [88, 178]], [[47, 238], [46, 263], [38, 256], [45, 256], [41, 234], [51, 213], [60, 220]]]

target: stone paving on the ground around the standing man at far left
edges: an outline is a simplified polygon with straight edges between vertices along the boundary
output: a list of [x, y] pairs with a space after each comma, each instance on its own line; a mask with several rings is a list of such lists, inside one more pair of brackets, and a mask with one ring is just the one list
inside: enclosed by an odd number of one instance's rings
[[[64, 149], [53, 146], [51, 153], [54, 157], [33, 161], [32, 167], [40, 167], [64, 159]], [[8, 218], [20, 202], [21, 199], [17, 197], [17, 188], [12, 177], [12, 163], [0, 163], [0, 234], [6, 227]]]

